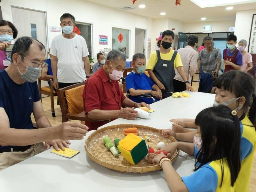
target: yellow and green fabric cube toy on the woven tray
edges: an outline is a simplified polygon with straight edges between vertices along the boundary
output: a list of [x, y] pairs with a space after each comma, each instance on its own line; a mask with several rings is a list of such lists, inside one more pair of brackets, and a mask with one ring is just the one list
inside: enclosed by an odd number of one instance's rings
[[145, 140], [132, 133], [119, 141], [117, 148], [122, 156], [133, 165], [138, 164], [148, 154]]

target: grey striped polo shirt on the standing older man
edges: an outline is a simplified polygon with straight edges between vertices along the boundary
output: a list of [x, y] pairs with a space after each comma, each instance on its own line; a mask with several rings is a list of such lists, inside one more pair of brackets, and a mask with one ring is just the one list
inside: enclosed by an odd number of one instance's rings
[[218, 59], [221, 58], [220, 49], [213, 47], [211, 52], [207, 52], [207, 49], [203, 49], [198, 54], [197, 59], [201, 60], [204, 73], [212, 74], [218, 66]]

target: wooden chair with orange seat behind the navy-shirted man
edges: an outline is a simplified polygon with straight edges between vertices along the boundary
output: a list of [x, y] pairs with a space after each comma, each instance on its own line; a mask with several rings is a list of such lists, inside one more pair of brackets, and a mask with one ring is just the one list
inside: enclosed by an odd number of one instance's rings
[[[50, 82], [51, 86], [50, 87], [49, 86], [41, 87], [41, 81], [48, 81], [48, 82]], [[42, 94], [48, 95], [48, 96], [51, 97], [52, 117], [55, 117], [53, 97], [57, 96], [57, 93], [53, 90], [53, 81], [52, 81], [52, 79], [39, 77], [38, 78], [38, 89], [39, 89], [39, 95], [40, 95], [41, 102], [42, 102]]]

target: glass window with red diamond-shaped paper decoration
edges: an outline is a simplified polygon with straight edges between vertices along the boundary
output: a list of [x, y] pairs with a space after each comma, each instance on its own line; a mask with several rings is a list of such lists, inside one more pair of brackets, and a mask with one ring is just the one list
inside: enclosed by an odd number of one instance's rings
[[130, 30], [112, 28], [112, 50], [124, 52], [129, 58]]

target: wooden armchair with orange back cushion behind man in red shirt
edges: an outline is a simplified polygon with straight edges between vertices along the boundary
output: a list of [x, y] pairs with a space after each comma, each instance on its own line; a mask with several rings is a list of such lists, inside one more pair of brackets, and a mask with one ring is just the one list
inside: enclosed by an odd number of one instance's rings
[[86, 81], [57, 89], [60, 102], [62, 122], [68, 120], [96, 121], [84, 114], [84, 99], [82, 97]]

